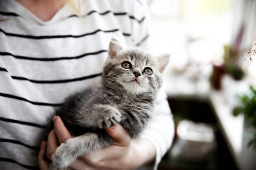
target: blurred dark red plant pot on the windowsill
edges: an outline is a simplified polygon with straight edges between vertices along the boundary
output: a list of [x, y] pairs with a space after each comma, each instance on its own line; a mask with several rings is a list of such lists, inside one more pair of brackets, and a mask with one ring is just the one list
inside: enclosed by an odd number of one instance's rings
[[221, 89], [221, 78], [225, 74], [224, 65], [215, 65], [213, 64], [213, 71], [211, 76], [211, 85], [215, 90]]

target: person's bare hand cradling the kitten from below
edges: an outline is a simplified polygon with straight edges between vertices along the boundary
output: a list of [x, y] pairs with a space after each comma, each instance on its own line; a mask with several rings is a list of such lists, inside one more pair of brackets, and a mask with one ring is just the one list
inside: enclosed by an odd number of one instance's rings
[[[58, 143], [63, 143], [69, 138], [73, 138], [67, 128], [64, 126], [61, 118], [55, 117], [55, 128], [49, 133], [47, 144], [42, 143], [42, 147], [38, 156], [38, 162], [41, 170], [47, 170], [47, 161], [44, 160], [44, 154], [51, 159], [53, 153], [58, 147]], [[146, 152], [141, 150], [137, 144], [131, 142], [131, 137], [126, 133], [121, 125], [116, 125], [106, 129], [109, 136], [114, 139], [111, 146], [101, 150], [95, 150], [92, 153], [85, 154], [72, 164], [70, 168], [73, 170], [98, 170], [98, 169], [136, 169], [140, 165], [151, 161], [155, 156], [154, 146], [148, 142], [143, 142]], [[46, 151], [47, 145], [47, 151]], [[144, 154], [143, 154], [144, 153]]]

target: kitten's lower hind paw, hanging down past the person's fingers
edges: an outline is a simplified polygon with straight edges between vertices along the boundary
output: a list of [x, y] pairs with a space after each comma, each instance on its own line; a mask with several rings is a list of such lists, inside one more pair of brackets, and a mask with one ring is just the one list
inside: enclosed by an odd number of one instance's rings
[[[74, 138], [73, 138], [74, 139]], [[76, 146], [73, 144], [72, 139], [68, 139], [62, 143], [52, 156], [52, 163], [55, 167], [64, 168], [68, 167], [77, 158]]]

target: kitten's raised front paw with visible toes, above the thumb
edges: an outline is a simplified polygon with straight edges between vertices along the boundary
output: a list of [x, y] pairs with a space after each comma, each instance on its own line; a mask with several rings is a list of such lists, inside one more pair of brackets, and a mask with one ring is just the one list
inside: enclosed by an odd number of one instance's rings
[[118, 109], [110, 107], [106, 108], [104, 113], [102, 113], [99, 118], [98, 125], [99, 128], [109, 128], [111, 126], [115, 126], [116, 123], [119, 123], [122, 119], [122, 114]]

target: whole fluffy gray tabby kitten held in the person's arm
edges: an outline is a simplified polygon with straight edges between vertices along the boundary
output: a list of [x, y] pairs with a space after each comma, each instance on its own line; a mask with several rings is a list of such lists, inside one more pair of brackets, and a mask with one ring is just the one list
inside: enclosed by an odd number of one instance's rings
[[109, 146], [105, 128], [117, 123], [137, 138], [154, 113], [169, 55], [152, 57], [139, 48], [123, 49], [112, 39], [102, 84], [66, 99], [57, 115], [73, 139], [62, 143], [52, 157], [51, 170], [68, 167], [79, 156]]

